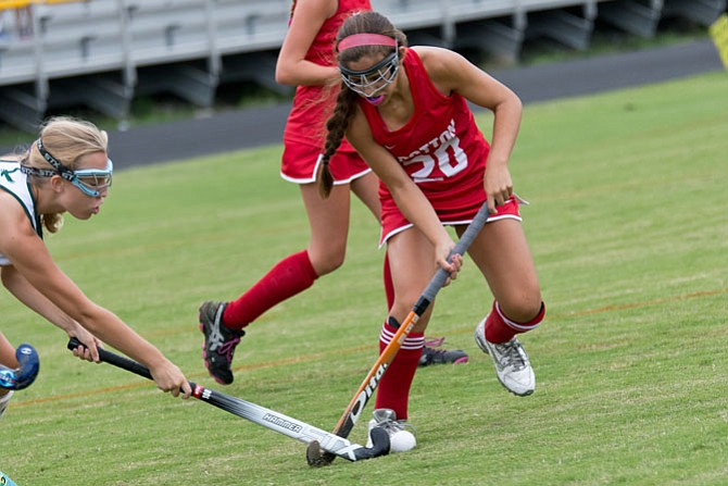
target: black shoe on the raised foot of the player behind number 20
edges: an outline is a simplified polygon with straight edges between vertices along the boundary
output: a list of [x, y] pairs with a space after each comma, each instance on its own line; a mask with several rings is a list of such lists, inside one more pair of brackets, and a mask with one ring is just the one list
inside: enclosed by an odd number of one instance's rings
[[233, 383], [233, 354], [244, 331], [230, 329], [223, 324], [226, 302], [206, 301], [200, 306], [200, 331], [204, 334], [202, 358], [210, 376], [221, 385]]

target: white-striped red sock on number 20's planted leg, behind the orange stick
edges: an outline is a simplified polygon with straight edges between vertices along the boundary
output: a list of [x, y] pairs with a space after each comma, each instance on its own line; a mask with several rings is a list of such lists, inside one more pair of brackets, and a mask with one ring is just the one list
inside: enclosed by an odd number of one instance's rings
[[[379, 352], [384, 351], [392, 340], [394, 333], [397, 328], [385, 323], [379, 335]], [[397, 413], [397, 420], [406, 420], [410, 387], [417, 371], [423, 346], [425, 346], [423, 333], [410, 333], [404, 339], [394, 361], [379, 382], [376, 409], [392, 409]]]

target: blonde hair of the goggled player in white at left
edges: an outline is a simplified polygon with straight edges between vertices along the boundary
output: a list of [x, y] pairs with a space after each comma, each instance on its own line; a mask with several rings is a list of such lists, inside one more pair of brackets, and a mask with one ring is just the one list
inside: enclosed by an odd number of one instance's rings
[[[72, 171], [78, 166], [78, 159], [89, 153], [106, 153], [109, 146], [106, 132], [99, 129], [91, 122], [71, 116], [55, 116], [46, 121], [40, 127], [39, 139], [43, 148], [55, 160]], [[40, 154], [36, 142], [21, 158], [21, 164], [46, 171], [55, 170]], [[48, 180], [37, 175], [28, 175], [28, 179], [32, 185], [36, 186], [46, 184]], [[40, 221], [50, 233], [58, 232], [63, 225], [61, 213], [41, 214]]]

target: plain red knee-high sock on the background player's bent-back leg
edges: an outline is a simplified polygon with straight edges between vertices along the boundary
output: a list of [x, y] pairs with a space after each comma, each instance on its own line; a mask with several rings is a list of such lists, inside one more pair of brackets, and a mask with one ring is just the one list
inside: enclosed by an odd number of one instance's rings
[[311, 287], [318, 278], [306, 250], [279, 261], [267, 274], [237, 300], [229, 302], [223, 313], [227, 327], [241, 329], [263, 312]]

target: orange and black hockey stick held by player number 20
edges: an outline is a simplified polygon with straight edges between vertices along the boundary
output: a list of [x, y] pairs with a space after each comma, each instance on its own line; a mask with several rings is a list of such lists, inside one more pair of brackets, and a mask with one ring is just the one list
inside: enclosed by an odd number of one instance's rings
[[[463, 236], [455, 245], [455, 248], [450, 253], [448, 261], [452, 261], [453, 254], [462, 256], [465, 253], [465, 251], [467, 251], [475, 237], [478, 236], [478, 233], [480, 233], [480, 229], [482, 229], [482, 226], [485, 226], [486, 222], [488, 221], [488, 204], [485, 202], [465, 229], [465, 233], [463, 233]], [[369, 398], [372, 398], [374, 391], [379, 386], [381, 376], [384, 376], [387, 367], [394, 360], [394, 357], [402, 347], [402, 342], [404, 342], [404, 339], [406, 339], [410, 331], [412, 331], [415, 324], [417, 324], [419, 317], [425, 313], [432, 300], [435, 300], [435, 296], [438, 291], [440, 291], [449, 276], [450, 274], [442, 267], [438, 269], [438, 271], [435, 273], [435, 276], [429, 282], [429, 284], [427, 284], [427, 287], [425, 287], [425, 290], [415, 302], [404, 322], [402, 322], [400, 327], [397, 329], [397, 333], [394, 333], [391, 341], [381, 351], [379, 358], [374, 363], [374, 366], [372, 366], [372, 370], [360, 385], [359, 389], [354, 394], [354, 398], [352, 398], [349, 407], [347, 407], [347, 409], [343, 411], [341, 419], [339, 419], [339, 422], [334, 429], [334, 434], [338, 435], [339, 437], [349, 437], [349, 434], [351, 433], [352, 428], [354, 428], [356, 421], [359, 421], [364, 407], [366, 407]], [[331, 463], [331, 461], [334, 461], [334, 454], [327, 453], [324, 448], [317, 448], [315, 443], [309, 444], [306, 449], [306, 461], [309, 462], [309, 465], [316, 468], [328, 465]]]

